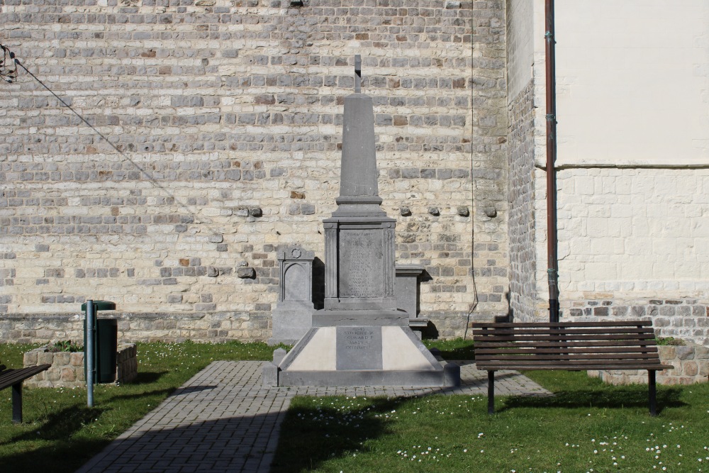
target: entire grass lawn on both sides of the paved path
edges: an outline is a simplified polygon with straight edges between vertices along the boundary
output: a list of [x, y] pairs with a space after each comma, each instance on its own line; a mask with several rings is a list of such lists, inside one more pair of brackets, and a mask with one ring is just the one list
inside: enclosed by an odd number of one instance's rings
[[[427, 343], [448, 359], [469, 342]], [[20, 367], [34, 346], [1, 345]], [[73, 472], [212, 360], [268, 360], [263, 343], [138, 345], [139, 378], [124, 386], [25, 389], [23, 425], [11, 423], [0, 391], [0, 472]], [[281, 472], [709, 472], [709, 384], [659, 386], [659, 416], [647, 386], [608, 386], [581, 372], [529, 372], [552, 398], [296, 398], [281, 428]]]

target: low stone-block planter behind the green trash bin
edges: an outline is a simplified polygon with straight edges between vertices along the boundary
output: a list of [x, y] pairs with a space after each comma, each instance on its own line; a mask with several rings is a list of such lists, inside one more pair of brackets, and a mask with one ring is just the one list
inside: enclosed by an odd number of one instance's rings
[[[25, 386], [38, 388], [73, 388], [86, 386], [84, 376], [84, 352], [49, 352], [48, 347], [39, 347], [26, 352], [23, 366], [30, 367], [50, 363], [52, 367], [24, 382]], [[118, 343], [116, 352], [116, 382], [123, 384], [138, 376], [138, 350], [135, 343]]]

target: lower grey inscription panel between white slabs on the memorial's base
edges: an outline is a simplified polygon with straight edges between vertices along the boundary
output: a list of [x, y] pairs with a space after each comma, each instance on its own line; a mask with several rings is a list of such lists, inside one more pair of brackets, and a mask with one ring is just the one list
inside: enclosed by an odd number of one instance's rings
[[381, 327], [337, 327], [337, 369], [382, 369]]

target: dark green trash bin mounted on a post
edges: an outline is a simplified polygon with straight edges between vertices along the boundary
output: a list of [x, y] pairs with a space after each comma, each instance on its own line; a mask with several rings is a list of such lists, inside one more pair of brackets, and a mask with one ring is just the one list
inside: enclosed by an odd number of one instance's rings
[[[116, 303], [111, 301], [94, 301], [94, 367], [96, 367], [96, 383], [112, 383], [116, 381], [116, 352], [118, 351], [118, 321], [115, 318], [98, 318], [99, 311], [114, 311]], [[86, 347], [86, 303], [82, 304], [84, 311], [84, 347]], [[84, 376], [87, 360], [84, 357]]]

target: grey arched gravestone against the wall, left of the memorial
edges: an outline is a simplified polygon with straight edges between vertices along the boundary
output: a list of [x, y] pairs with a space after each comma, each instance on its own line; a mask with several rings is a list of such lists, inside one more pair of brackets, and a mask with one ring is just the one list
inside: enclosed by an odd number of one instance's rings
[[313, 260], [312, 251], [286, 247], [278, 252], [278, 305], [272, 313], [272, 336], [269, 345], [293, 345], [312, 326]]

